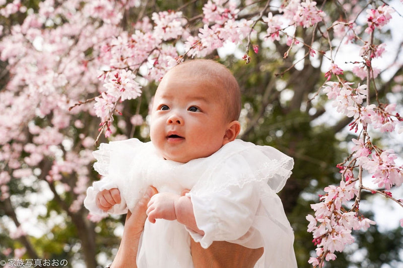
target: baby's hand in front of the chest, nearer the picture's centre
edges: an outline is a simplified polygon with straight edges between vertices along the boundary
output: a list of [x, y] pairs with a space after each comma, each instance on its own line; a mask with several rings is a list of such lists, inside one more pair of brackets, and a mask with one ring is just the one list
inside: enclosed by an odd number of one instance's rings
[[172, 193], [159, 193], [154, 195], [148, 203], [148, 220], [155, 223], [156, 219], [176, 220], [175, 202], [179, 195]]

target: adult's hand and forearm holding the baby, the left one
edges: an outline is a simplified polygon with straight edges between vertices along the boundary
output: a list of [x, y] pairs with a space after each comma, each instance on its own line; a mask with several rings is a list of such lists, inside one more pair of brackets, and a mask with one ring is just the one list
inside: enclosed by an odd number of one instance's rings
[[147, 219], [147, 204], [151, 197], [158, 191], [150, 186], [143, 198], [137, 203], [132, 213], [127, 212], [124, 223], [122, 241], [110, 267], [112, 268], [137, 268], [136, 257], [139, 249], [141, 234]]

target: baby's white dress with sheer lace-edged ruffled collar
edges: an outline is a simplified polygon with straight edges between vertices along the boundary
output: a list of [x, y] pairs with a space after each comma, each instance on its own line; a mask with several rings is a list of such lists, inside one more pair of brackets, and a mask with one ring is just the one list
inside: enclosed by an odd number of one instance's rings
[[277, 195], [291, 175], [294, 161], [270, 146], [235, 140], [206, 158], [187, 163], [164, 160], [151, 142], [138, 139], [101, 144], [94, 164], [104, 177], [87, 190], [84, 205], [105, 215], [95, 203], [98, 192], [118, 188], [122, 202], [108, 213], [132, 209], [152, 185], [158, 192], [187, 196], [193, 204], [199, 235], [177, 221], [146, 221], [137, 255], [139, 268], [191, 268], [190, 237], [207, 248], [229, 241], [264, 247], [255, 268], [297, 267], [294, 233]]

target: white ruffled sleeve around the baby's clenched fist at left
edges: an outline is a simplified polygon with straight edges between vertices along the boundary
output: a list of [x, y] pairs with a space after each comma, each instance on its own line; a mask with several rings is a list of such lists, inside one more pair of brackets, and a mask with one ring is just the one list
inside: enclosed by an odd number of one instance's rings
[[[94, 169], [103, 177], [87, 189], [84, 206], [90, 213], [100, 216], [127, 213], [126, 200], [122, 195], [121, 185], [122, 182], [129, 179], [129, 175], [132, 173], [131, 163], [136, 155], [141, 154], [144, 146], [145, 143], [138, 139], [128, 139], [101, 143], [98, 150], [93, 152], [97, 160], [94, 163]], [[113, 206], [108, 212], [104, 212], [97, 207], [96, 196], [99, 192], [112, 188], [120, 188], [121, 202]]]

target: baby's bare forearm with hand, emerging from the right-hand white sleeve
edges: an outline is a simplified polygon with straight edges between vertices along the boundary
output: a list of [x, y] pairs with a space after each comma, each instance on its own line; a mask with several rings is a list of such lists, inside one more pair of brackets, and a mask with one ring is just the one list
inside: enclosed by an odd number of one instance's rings
[[189, 197], [184, 196], [185, 193], [182, 196], [172, 193], [154, 195], [148, 203], [148, 219], [152, 223], [155, 223], [156, 219], [177, 220], [192, 231], [204, 235], [204, 232], [197, 228], [192, 202]]

